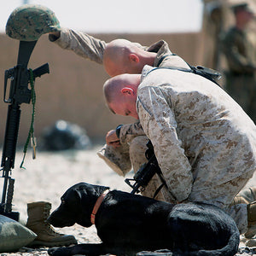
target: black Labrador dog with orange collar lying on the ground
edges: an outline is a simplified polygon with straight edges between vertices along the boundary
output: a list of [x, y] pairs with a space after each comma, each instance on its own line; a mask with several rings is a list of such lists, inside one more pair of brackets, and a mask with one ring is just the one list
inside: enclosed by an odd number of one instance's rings
[[172, 255], [227, 256], [238, 250], [236, 223], [218, 207], [198, 202], [174, 205], [119, 190], [107, 194], [107, 189], [75, 184], [48, 218], [55, 227], [90, 227], [95, 220], [102, 243], [53, 247], [49, 255], [136, 255], [168, 249]]

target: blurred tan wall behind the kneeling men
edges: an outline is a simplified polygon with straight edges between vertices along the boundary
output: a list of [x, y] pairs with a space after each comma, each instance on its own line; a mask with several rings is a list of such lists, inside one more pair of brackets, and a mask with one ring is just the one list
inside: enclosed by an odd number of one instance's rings
[[[201, 35], [191, 34], [97, 34], [109, 42], [114, 38], [127, 38], [143, 45], [164, 39], [177, 55], [190, 64], [201, 64]], [[3, 78], [6, 69], [15, 67], [19, 41], [0, 34], [0, 143], [3, 143], [8, 104], [3, 103]], [[105, 106], [102, 84], [108, 75], [101, 65], [86, 61], [71, 51], [49, 42], [47, 36], [39, 38], [32, 52], [29, 68], [49, 63], [49, 74], [36, 80], [35, 136], [40, 137], [44, 127], [57, 119], [65, 119], [84, 127], [90, 138], [104, 138], [106, 132], [134, 119], [116, 116]], [[21, 105], [19, 143], [26, 141], [31, 122], [32, 104]]]

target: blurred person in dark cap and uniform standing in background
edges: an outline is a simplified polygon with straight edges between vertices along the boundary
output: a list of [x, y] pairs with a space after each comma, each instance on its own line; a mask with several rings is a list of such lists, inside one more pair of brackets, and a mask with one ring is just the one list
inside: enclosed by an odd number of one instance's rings
[[[232, 4], [236, 18], [235, 26], [222, 38], [222, 49], [229, 70], [226, 72], [225, 88], [241, 108], [256, 122], [256, 47], [247, 30], [253, 21], [253, 2], [240, 1]], [[255, 37], [256, 33], [253, 32]]]

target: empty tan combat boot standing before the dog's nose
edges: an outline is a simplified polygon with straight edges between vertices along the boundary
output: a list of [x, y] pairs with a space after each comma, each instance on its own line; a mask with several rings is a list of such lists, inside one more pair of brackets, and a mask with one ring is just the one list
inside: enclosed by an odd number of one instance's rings
[[38, 201], [27, 204], [26, 227], [38, 235], [29, 246], [32, 247], [59, 247], [77, 244], [74, 236], [57, 233], [47, 222], [51, 204], [46, 201]]

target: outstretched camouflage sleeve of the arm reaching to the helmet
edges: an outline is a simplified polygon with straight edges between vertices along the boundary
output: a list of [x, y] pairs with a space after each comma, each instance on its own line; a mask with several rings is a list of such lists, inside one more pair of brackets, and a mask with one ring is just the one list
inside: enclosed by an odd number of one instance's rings
[[73, 50], [77, 55], [102, 64], [104, 49], [107, 43], [97, 38], [72, 29], [62, 28], [61, 37], [55, 38], [49, 35], [49, 40], [58, 44], [62, 49]]

